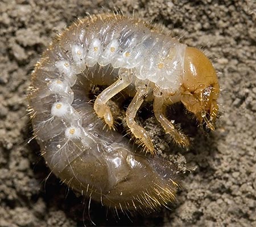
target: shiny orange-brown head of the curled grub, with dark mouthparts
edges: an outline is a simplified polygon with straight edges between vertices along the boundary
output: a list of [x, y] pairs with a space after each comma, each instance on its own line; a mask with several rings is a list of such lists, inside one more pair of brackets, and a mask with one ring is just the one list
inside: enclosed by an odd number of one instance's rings
[[186, 48], [183, 88], [181, 102], [206, 129], [214, 130], [220, 87], [212, 63], [199, 49]]

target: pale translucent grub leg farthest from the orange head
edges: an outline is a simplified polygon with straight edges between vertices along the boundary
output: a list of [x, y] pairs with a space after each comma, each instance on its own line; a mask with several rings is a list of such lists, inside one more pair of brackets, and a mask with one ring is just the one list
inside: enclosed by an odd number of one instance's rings
[[106, 124], [109, 125], [109, 128], [113, 127], [114, 121], [110, 108], [106, 105], [106, 102], [108, 102], [108, 100], [117, 93], [125, 89], [129, 84], [129, 79], [119, 78], [117, 81], [112, 83], [112, 85], [102, 91], [102, 93], [98, 95], [97, 99], [95, 100], [94, 110], [99, 117], [104, 118]]

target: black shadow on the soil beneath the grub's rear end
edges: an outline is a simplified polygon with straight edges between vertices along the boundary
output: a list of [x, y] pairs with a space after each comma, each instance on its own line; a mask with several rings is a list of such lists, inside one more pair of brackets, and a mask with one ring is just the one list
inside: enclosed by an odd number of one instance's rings
[[[76, 221], [77, 226], [163, 226], [165, 208], [152, 212], [150, 216], [116, 211], [90, 201], [89, 197], [76, 196], [68, 186], [61, 185], [55, 176], [48, 179], [44, 199], [48, 208], [60, 209], [65, 216]], [[174, 205], [170, 209], [173, 211]]]

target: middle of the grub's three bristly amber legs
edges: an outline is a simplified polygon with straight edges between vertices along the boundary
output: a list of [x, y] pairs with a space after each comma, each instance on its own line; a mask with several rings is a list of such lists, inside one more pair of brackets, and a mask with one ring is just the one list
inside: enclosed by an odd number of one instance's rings
[[126, 123], [134, 136], [143, 142], [151, 154], [154, 154], [154, 145], [152, 144], [150, 136], [148, 136], [146, 130], [139, 126], [134, 120], [136, 113], [139, 110], [139, 107], [141, 107], [146, 95], [147, 92], [145, 89], [137, 89], [137, 93], [126, 111]]

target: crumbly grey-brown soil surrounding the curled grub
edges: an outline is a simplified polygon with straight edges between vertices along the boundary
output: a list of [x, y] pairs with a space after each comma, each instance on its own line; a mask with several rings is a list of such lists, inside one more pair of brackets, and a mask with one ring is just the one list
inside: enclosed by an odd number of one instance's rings
[[[193, 3], [192, 3], [193, 2]], [[256, 226], [256, 6], [254, 1], [0, 1], [0, 226]], [[117, 217], [87, 208], [50, 176], [26, 115], [30, 73], [51, 37], [77, 17], [138, 12], [203, 48], [218, 71], [215, 132], [181, 152], [196, 171], [171, 210]], [[189, 122], [189, 121], [188, 121]], [[45, 183], [46, 182], [46, 183]], [[88, 207], [88, 206], [87, 206]], [[83, 223], [84, 222], [84, 223]]]

